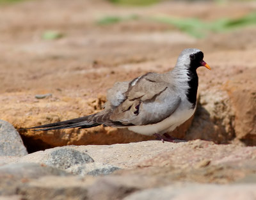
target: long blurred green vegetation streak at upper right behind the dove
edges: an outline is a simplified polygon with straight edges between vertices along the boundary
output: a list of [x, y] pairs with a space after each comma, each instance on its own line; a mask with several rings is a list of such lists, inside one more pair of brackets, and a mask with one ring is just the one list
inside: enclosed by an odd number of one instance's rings
[[205, 22], [195, 18], [177, 19], [167, 16], [155, 16], [155, 17], [139, 17], [138, 15], [132, 15], [129, 17], [108, 16], [98, 20], [100, 25], [109, 25], [122, 22], [125, 20], [147, 20], [151, 22], [159, 22], [164, 24], [170, 24], [170, 26], [177, 27], [180, 31], [188, 33], [196, 38], [203, 38], [207, 36], [207, 33], [214, 32], [220, 33], [224, 31], [232, 31], [232, 29], [238, 29], [244, 26], [256, 25], [256, 12], [249, 13], [243, 17], [237, 19], [218, 19], [210, 22]]

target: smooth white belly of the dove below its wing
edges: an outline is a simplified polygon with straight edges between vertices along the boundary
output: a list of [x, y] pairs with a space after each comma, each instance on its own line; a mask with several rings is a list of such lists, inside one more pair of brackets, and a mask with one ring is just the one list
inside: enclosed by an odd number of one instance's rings
[[185, 121], [187, 121], [195, 112], [195, 109], [178, 108], [173, 114], [159, 123], [144, 126], [128, 127], [129, 130], [142, 135], [164, 134], [172, 131]]

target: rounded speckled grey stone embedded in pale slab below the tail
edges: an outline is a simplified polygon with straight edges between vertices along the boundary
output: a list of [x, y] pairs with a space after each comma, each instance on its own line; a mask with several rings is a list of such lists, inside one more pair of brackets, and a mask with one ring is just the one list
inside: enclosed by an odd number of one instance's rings
[[68, 169], [74, 165], [81, 165], [89, 162], [94, 162], [94, 160], [87, 153], [68, 148], [60, 148], [51, 152], [45, 164], [59, 169]]

